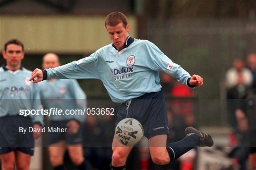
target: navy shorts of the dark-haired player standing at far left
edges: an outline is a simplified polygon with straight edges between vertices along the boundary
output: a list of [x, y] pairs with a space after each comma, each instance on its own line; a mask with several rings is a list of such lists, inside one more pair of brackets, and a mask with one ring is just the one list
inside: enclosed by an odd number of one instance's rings
[[[24, 134], [20, 128], [26, 128]], [[19, 150], [30, 155], [34, 154], [33, 132], [28, 132], [33, 127], [32, 120], [23, 116], [5, 116], [0, 118], [0, 154]]]

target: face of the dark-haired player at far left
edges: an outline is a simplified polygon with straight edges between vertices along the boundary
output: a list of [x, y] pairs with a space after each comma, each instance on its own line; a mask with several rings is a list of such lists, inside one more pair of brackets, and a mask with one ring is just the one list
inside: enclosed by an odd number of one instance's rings
[[24, 58], [22, 47], [17, 44], [9, 44], [6, 51], [2, 52], [3, 58], [6, 60], [6, 66], [10, 68], [20, 68], [21, 60]]

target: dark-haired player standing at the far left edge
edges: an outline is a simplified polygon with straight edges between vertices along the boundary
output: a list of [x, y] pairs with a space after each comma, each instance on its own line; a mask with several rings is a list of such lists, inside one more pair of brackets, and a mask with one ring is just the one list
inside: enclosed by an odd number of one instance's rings
[[[42, 109], [38, 85], [29, 81], [31, 71], [21, 66], [23, 43], [11, 39], [2, 52], [6, 64], [0, 67], [0, 159], [2, 170], [28, 170], [34, 154], [34, 139], [41, 132], [28, 132], [29, 127], [40, 129], [43, 116], [23, 117], [19, 110]], [[26, 128], [26, 133], [19, 128]]]

